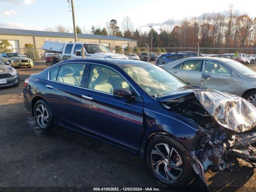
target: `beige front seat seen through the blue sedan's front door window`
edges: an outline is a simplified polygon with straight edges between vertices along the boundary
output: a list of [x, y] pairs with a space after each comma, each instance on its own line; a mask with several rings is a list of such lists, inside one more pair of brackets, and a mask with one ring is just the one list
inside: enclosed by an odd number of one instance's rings
[[113, 87], [108, 83], [108, 74], [101, 72], [98, 78], [92, 82], [92, 89], [106, 93], [113, 93]]

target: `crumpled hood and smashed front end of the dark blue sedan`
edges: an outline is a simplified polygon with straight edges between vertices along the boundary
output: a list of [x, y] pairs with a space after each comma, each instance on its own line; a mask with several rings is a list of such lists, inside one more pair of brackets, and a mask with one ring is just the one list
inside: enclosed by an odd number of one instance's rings
[[231, 169], [235, 158], [256, 162], [256, 108], [247, 100], [196, 86], [156, 99], [167, 110], [195, 122], [198, 131], [190, 155], [201, 166], [198, 172]]

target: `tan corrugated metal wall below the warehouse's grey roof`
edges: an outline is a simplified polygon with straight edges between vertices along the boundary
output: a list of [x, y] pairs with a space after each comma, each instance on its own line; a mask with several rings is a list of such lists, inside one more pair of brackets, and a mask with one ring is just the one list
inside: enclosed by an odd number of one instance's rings
[[[33, 40], [34, 38], [34, 40]], [[54, 40], [61, 42], [74, 42], [74, 38], [64, 38], [64, 37], [42, 37], [42, 36], [18, 36], [18, 35], [1, 35], [0, 40], [18, 40], [20, 48], [24, 48], [25, 44], [35, 44], [36, 48], [42, 48], [44, 41]], [[137, 46], [136, 41], [122, 41], [122, 40], [102, 40], [102, 39], [85, 39], [78, 38], [78, 42], [88, 42], [88, 43], [110, 43], [110, 48], [116, 45], [122, 47], [122, 44], [129, 44], [131, 48]]]

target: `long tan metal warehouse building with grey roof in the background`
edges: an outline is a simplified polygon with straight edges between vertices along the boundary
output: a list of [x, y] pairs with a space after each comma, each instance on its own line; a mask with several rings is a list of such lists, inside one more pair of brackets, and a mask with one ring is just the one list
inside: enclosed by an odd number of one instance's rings
[[[127, 46], [134, 48], [137, 41], [117, 36], [77, 34], [78, 42], [100, 43], [114, 48], [114, 46]], [[74, 42], [73, 33], [60, 33], [35, 30], [5, 29], [0, 28], [0, 40], [8, 40], [15, 52], [22, 52], [25, 44], [33, 44], [35, 48], [42, 48], [45, 40], [54, 40], [61, 42]]]

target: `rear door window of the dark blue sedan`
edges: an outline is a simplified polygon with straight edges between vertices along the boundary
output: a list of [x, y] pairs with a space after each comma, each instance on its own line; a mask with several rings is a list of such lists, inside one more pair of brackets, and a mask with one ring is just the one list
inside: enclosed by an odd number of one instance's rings
[[80, 87], [85, 66], [86, 64], [61, 65], [56, 81]]

